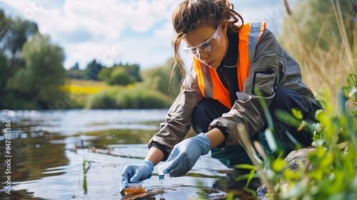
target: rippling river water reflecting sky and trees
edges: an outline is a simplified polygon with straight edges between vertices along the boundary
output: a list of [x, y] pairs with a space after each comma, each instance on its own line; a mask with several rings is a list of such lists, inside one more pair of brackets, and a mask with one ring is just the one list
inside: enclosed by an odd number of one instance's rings
[[[126, 164], [141, 163], [166, 112], [0, 111], [0, 199], [227, 199], [228, 194], [254, 199], [232, 184], [232, 169], [209, 154], [186, 176], [166, 175], [160, 192], [155, 167], [144, 181], [144, 194], [120, 194], [121, 171]], [[8, 143], [6, 133], [11, 134]]]

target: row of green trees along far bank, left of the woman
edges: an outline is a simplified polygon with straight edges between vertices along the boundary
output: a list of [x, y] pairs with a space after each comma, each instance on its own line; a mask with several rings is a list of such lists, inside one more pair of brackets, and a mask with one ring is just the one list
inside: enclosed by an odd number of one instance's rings
[[66, 79], [103, 80], [111, 85], [142, 81], [139, 64], [64, 69], [64, 49], [41, 34], [34, 21], [11, 18], [0, 9], [0, 109], [51, 109], [62, 101]]

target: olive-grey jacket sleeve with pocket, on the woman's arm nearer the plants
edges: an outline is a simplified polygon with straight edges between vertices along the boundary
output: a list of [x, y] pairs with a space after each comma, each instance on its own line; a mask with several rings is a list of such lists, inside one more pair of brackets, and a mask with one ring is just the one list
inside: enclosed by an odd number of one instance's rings
[[[263, 107], [259, 102], [262, 98], [270, 106], [276, 86], [286, 79], [286, 57], [275, 36], [265, 29], [256, 45], [256, 54], [250, 65], [248, 77], [244, 82], [242, 92], [237, 92], [238, 100], [231, 111], [223, 114], [210, 124], [223, 126], [228, 132], [226, 145], [238, 144], [237, 124], [243, 124], [249, 136], [260, 131], [266, 123]], [[260, 97], [261, 96], [261, 97]]]

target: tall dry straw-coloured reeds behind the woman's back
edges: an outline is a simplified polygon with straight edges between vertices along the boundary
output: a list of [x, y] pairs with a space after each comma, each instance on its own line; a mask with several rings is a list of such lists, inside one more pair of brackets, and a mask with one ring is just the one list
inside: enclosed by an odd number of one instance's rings
[[[288, 9], [286, 0], [284, 2], [288, 15], [283, 24], [281, 44], [289, 54], [293, 54], [294, 59], [301, 65], [303, 81], [313, 90], [314, 94], [320, 97], [323, 89], [327, 87], [336, 103], [338, 89], [346, 84], [348, 73], [356, 74], [357, 72], [356, 23], [355, 26], [349, 27], [348, 21], [343, 19], [343, 11], [341, 11], [338, 0], [331, 0], [331, 11], [323, 14], [317, 20], [321, 20], [321, 24], [307, 24], [304, 21], [299, 21], [299, 17], [304, 13], [300, 13], [298, 16], [294, 15], [293, 11]], [[300, 4], [304, 9], [309, 9], [308, 1], [300, 1], [297, 4]], [[338, 36], [331, 33], [331, 21], [336, 21]], [[315, 44], [311, 44], [308, 38], [309, 34], [316, 33], [301, 31], [301, 29], [306, 29], [306, 26], [320, 28]], [[314, 30], [316, 27], [311, 28], [311, 31]], [[353, 42], [348, 41], [348, 36], [351, 34]]]

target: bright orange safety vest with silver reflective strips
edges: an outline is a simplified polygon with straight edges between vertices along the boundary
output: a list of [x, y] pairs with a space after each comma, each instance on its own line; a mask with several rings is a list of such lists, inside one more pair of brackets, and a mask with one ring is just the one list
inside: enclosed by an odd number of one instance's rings
[[[249, 66], [253, 62], [256, 53], [256, 44], [261, 39], [264, 29], [266, 29], [266, 23], [264, 22], [244, 24], [239, 29], [237, 66], [239, 91], [243, 91], [244, 82], [248, 77]], [[201, 62], [196, 58], [193, 59], [193, 67], [197, 74], [198, 86], [202, 95], [208, 99], [216, 99], [228, 109], [231, 109], [228, 89], [222, 84], [216, 69], [211, 69], [204, 65], [201, 67]]]

